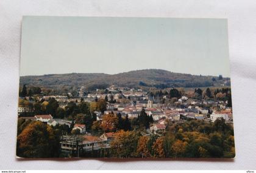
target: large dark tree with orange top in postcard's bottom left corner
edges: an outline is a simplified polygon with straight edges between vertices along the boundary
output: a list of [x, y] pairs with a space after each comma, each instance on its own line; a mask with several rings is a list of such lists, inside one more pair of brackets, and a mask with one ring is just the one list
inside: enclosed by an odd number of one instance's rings
[[59, 138], [50, 126], [34, 121], [17, 137], [17, 155], [33, 158], [58, 157]]

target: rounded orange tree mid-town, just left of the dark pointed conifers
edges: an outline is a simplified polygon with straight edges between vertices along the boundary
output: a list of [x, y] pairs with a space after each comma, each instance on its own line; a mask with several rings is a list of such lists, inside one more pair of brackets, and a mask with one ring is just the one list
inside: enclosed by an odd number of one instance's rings
[[118, 127], [118, 118], [114, 114], [103, 115], [101, 127], [104, 132], [115, 132]]

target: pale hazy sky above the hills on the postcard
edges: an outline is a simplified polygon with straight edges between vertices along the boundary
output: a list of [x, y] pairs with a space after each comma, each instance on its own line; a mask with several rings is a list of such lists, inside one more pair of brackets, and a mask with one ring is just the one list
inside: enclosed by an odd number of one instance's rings
[[140, 69], [230, 76], [227, 20], [23, 18], [21, 76]]

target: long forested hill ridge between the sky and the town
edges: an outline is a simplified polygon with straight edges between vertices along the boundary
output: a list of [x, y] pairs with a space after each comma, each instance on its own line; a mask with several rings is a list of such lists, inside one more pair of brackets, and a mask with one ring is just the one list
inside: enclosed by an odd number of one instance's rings
[[20, 84], [48, 88], [80, 87], [104, 89], [119, 87], [208, 87], [230, 86], [230, 78], [173, 73], [167, 70], [146, 69], [108, 75], [105, 73], [68, 73], [41, 76], [21, 76]]

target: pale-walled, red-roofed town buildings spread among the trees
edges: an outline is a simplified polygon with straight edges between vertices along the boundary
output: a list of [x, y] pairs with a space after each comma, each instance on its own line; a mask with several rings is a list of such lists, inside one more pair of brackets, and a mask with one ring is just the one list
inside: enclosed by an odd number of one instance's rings
[[[159, 98], [149, 97], [147, 92], [134, 89], [115, 89], [108, 88], [108, 93], [88, 93], [84, 95], [84, 87], [79, 90], [79, 98], [68, 98], [68, 96], [53, 95], [43, 96], [40, 99], [45, 101], [49, 98], [55, 98], [59, 102], [60, 107], [65, 108], [70, 101], [79, 104], [80, 98], [84, 101], [95, 101], [96, 98], [108, 99], [107, 107], [104, 112], [95, 111], [94, 114], [98, 121], [102, 120], [105, 114], [121, 114], [122, 117], [130, 119], [137, 118], [141, 110], [145, 110], [146, 114], [152, 116], [154, 123], [147, 130], [148, 134], [156, 134], [159, 131], [165, 131], [168, 121], [178, 121], [182, 123], [187, 119], [197, 119], [214, 122], [219, 118], [223, 118], [226, 123], [233, 123], [232, 108], [226, 107], [225, 101], [218, 100], [196, 100], [188, 97], [181, 97], [176, 101], [176, 105], [162, 103]], [[109, 93], [109, 91], [111, 91]], [[163, 96], [165, 98], [166, 96]], [[118, 101], [126, 98], [125, 102]], [[110, 102], [110, 100], [116, 100]], [[127, 100], [129, 100], [127, 102]], [[29, 112], [28, 107], [18, 107], [18, 114]], [[57, 124], [66, 124], [71, 126], [71, 121], [53, 118], [51, 115], [35, 115], [34, 117], [23, 117], [26, 120], [41, 121], [49, 126]], [[113, 140], [115, 133], [104, 133], [100, 137], [87, 134], [86, 124], [74, 124], [73, 130], [80, 131], [79, 137], [76, 135], [63, 135], [60, 146], [64, 152], [93, 151], [98, 149], [107, 149]]]

